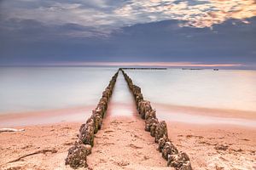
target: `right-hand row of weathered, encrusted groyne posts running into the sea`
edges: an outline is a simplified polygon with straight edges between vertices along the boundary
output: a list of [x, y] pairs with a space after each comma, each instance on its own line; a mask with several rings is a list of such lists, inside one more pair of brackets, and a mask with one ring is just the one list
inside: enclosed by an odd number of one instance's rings
[[122, 69], [120, 71], [122, 71], [125, 81], [134, 96], [138, 113], [145, 120], [145, 131], [150, 132], [150, 135], [154, 137], [155, 143], [159, 144], [158, 150], [162, 152], [163, 158], [166, 159], [167, 166], [175, 167], [177, 170], [192, 170], [189, 156], [183, 151], [178, 151], [168, 138], [166, 122], [157, 119], [156, 111], [152, 109], [150, 102], [143, 99], [141, 88], [133, 84], [125, 71]]

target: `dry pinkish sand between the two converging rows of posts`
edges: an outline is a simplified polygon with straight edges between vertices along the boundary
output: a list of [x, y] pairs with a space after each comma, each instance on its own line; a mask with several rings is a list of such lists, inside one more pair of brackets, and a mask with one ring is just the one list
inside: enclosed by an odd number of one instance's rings
[[93, 169], [172, 169], [166, 167], [139, 117], [108, 116], [96, 134], [95, 147], [88, 156]]

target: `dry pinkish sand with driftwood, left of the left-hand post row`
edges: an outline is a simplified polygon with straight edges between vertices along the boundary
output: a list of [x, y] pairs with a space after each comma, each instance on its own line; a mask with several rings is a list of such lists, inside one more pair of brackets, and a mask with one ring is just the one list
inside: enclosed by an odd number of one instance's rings
[[[25, 132], [20, 133], [0, 133], [0, 169], [65, 169], [67, 149], [77, 139], [79, 125], [56, 123], [22, 127]], [[57, 152], [27, 156], [20, 161], [7, 163], [38, 150]]]

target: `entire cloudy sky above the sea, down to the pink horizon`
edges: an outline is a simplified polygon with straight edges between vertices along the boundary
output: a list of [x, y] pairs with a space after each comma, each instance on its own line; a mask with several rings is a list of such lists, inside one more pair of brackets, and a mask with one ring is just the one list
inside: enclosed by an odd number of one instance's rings
[[256, 69], [255, 0], [0, 0], [0, 65]]

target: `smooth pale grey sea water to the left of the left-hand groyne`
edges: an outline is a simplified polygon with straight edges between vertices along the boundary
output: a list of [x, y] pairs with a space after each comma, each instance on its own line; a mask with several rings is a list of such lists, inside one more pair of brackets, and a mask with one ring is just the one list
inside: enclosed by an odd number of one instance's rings
[[96, 105], [117, 70], [0, 67], [0, 114]]

